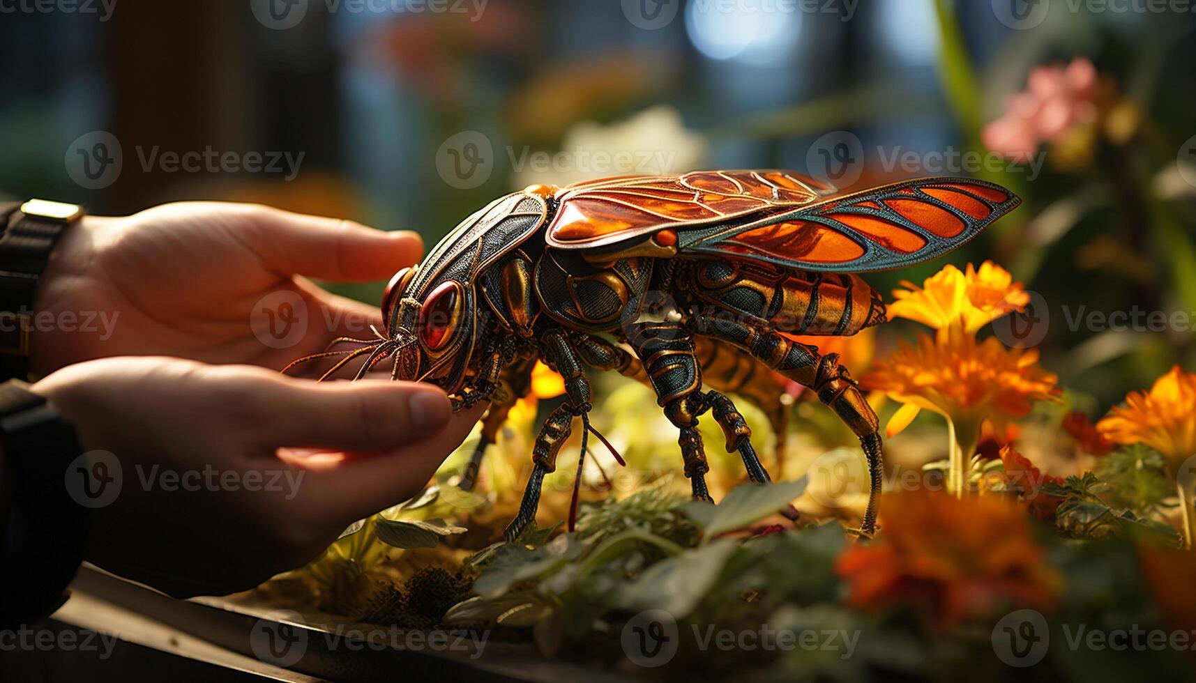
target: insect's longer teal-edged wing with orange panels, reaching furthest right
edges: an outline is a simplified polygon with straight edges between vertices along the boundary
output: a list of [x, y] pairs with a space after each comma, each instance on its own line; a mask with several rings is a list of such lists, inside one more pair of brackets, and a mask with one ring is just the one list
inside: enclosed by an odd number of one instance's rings
[[960, 246], [1019, 202], [993, 183], [922, 178], [689, 231], [678, 250], [805, 270], [885, 270]]

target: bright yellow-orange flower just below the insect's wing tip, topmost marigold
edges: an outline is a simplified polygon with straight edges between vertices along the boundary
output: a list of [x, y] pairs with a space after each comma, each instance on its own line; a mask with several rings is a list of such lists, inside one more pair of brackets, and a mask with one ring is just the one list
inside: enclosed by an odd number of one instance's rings
[[1021, 283], [991, 261], [982, 263], [978, 270], [969, 263], [965, 273], [946, 266], [927, 278], [922, 287], [909, 281], [902, 286], [905, 289], [893, 289], [897, 300], [889, 305], [889, 317], [909, 318], [940, 331], [962, 324], [975, 334], [1030, 303]]

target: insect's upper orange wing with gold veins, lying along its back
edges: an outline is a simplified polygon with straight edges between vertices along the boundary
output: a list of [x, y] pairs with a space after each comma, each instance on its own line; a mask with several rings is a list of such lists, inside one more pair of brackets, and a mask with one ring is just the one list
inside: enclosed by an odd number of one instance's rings
[[597, 248], [660, 230], [684, 231], [805, 206], [834, 188], [789, 171], [694, 171], [618, 176], [565, 188], [547, 240]]

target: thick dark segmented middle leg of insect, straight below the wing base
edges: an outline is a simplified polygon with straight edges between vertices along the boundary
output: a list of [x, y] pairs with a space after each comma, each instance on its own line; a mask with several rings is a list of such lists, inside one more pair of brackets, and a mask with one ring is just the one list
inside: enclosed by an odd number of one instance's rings
[[697, 416], [709, 408], [702, 396], [702, 371], [694, 356], [694, 337], [677, 323], [635, 323], [628, 325], [628, 343], [640, 356], [648, 382], [657, 392], [657, 403], [678, 429], [681, 455], [685, 463], [695, 500], [710, 500], [706, 488], [706, 462]]

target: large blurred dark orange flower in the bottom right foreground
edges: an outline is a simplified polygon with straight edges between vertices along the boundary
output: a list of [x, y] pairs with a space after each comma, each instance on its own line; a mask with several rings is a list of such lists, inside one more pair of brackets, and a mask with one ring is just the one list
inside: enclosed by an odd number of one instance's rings
[[836, 573], [858, 609], [913, 606], [950, 627], [1009, 608], [1050, 610], [1058, 575], [1045, 565], [1025, 513], [1000, 496], [885, 494], [884, 532], [840, 555]]

